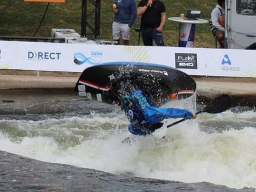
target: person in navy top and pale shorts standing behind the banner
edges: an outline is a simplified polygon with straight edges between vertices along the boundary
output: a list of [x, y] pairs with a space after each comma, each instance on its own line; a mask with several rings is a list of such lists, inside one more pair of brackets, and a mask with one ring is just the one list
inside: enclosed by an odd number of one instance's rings
[[129, 45], [130, 28], [137, 17], [136, 0], [115, 0], [113, 12], [115, 19], [112, 24], [113, 40], [119, 43], [122, 36], [123, 44]]

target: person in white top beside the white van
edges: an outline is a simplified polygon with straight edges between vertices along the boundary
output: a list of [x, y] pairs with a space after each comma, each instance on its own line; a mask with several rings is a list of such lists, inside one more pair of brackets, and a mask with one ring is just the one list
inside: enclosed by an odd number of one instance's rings
[[224, 27], [225, 27], [225, 0], [218, 0], [218, 4], [210, 14], [210, 29], [219, 42], [219, 48], [224, 48]]

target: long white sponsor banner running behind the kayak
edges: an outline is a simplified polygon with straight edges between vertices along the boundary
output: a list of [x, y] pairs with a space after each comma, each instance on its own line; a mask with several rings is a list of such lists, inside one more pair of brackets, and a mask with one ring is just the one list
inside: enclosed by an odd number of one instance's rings
[[0, 41], [0, 68], [82, 72], [105, 62], [144, 62], [189, 75], [256, 77], [255, 50]]

